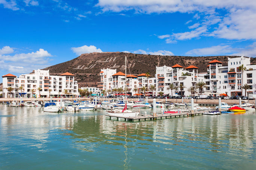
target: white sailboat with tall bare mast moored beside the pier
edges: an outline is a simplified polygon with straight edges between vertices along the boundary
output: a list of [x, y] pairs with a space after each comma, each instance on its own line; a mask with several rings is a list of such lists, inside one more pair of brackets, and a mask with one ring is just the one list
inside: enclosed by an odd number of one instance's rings
[[111, 115], [111, 116], [118, 116], [118, 117], [137, 117], [138, 114], [140, 113], [140, 111], [127, 110], [126, 63], [127, 63], [127, 57], [125, 56], [125, 107], [124, 107], [124, 109], [107, 110], [106, 113]]

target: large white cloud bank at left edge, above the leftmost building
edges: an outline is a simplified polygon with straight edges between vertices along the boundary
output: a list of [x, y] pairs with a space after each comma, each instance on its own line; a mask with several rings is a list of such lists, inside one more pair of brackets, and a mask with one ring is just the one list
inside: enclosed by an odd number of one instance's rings
[[[12, 53], [10, 48], [9, 53]], [[49, 57], [51, 56], [52, 55], [48, 53], [48, 51], [43, 50], [42, 48], [40, 48], [39, 51], [31, 53], [19, 53], [14, 55], [0, 54], [0, 69], [10, 73], [29, 73], [32, 72], [33, 69], [48, 67]]]

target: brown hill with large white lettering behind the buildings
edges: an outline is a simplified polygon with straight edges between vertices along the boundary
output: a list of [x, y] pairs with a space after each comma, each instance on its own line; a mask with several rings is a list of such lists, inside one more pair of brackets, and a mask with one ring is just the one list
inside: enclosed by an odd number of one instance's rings
[[[127, 74], [138, 75], [140, 73], [149, 72], [155, 75], [156, 66], [173, 66], [180, 64], [188, 67], [194, 65], [199, 68], [199, 72], [206, 72], [208, 62], [216, 59], [227, 65], [228, 57], [237, 56], [208, 56], [208, 57], [189, 57], [189, 56], [155, 56], [147, 54], [133, 54], [122, 52], [103, 52], [88, 53], [64, 62], [45, 68], [50, 70], [51, 75], [60, 75], [70, 72], [75, 75], [75, 79], [81, 86], [96, 86], [100, 81], [100, 69], [117, 69], [117, 72], [124, 72], [124, 58], [127, 56], [129, 70]], [[251, 58], [251, 63], [256, 64], [256, 58]]]

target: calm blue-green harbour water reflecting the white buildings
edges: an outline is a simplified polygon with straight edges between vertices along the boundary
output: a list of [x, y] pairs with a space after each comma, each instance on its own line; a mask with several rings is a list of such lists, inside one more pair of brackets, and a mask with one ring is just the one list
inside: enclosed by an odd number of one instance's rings
[[124, 122], [103, 110], [0, 105], [1, 170], [247, 170], [256, 167], [255, 153], [255, 112]]

